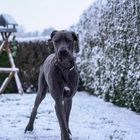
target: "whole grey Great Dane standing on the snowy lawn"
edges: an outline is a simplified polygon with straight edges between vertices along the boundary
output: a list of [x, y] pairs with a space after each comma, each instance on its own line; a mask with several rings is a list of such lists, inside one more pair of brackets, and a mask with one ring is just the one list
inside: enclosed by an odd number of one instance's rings
[[79, 51], [78, 35], [70, 31], [53, 31], [51, 39], [55, 53], [49, 55], [40, 68], [38, 93], [26, 131], [33, 130], [37, 109], [49, 89], [55, 101], [55, 111], [61, 129], [61, 140], [71, 140], [69, 116], [72, 97], [78, 86], [78, 71], [73, 56]]

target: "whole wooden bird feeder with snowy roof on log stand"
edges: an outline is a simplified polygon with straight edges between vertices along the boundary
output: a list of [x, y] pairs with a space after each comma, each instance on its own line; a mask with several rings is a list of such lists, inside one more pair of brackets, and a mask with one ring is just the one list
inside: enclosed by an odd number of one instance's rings
[[23, 93], [23, 88], [18, 76], [19, 69], [15, 65], [11, 52], [11, 47], [9, 44], [10, 35], [17, 31], [16, 26], [17, 26], [17, 22], [10, 15], [0, 14], [0, 33], [2, 36], [2, 43], [0, 45], [0, 55], [3, 51], [6, 51], [11, 65], [10, 68], [0, 67], [0, 74], [9, 73], [9, 76], [4, 80], [4, 82], [0, 86], [0, 94], [4, 92], [5, 88], [7, 87], [8, 83], [11, 81], [12, 77], [15, 77], [18, 92], [21, 94]]

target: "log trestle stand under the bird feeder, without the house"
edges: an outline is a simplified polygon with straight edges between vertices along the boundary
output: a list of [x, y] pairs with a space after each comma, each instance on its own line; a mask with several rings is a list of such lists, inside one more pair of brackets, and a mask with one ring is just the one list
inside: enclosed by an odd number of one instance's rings
[[17, 85], [17, 89], [18, 92], [20, 94], [23, 94], [23, 88], [18, 76], [18, 68], [16, 68], [15, 63], [14, 63], [14, 59], [12, 57], [12, 52], [10, 49], [10, 45], [8, 43], [8, 38], [11, 35], [11, 32], [1, 32], [2, 38], [3, 38], [3, 42], [0, 46], [0, 54], [2, 53], [3, 49], [6, 50], [7, 54], [8, 54], [8, 58], [11, 64], [11, 68], [0, 68], [0, 73], [6, 72], [6, 73], [10, 73], [9, 76], [5, 79], [5, 81], [3, 82], [3, 84], [0, 87], [0, 94], [2, 94], [5, 90], [5, 88], [7, 87], [8, 83], [10, 82], [10, 80], [12, 79], [12, 77], [15, 77], [15, 81], [16, 81], [16, 85]]

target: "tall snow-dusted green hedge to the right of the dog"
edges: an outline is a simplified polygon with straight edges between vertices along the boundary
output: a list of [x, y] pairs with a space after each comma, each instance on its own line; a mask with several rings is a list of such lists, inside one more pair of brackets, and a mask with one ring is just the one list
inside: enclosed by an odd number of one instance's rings
[[73, 28], [85, 89], [140, 112], [140, 1], [96, 0]]

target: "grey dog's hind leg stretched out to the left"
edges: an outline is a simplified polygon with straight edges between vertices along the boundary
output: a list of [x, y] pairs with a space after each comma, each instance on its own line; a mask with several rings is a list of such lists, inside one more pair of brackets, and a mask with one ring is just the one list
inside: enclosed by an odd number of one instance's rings
[[42, 100], [45, 98], [47, 92], [47, 83], [45, 81], [45, 76], [43, 72], [43, 67], [40, 69], [40, 74], [39, 74], [39, 79], [38, 79], [38, 92], [37, 96], [34, 102], [34, 107], [31, 112], [31, 116], [28, 122], [28, 125], [26, 126], [25, 133], [26, 131], [32, 131], [33, 130], [33, 125], [34, 125], [34, 120], [37, 115], [37, 109], [42, 102]]

